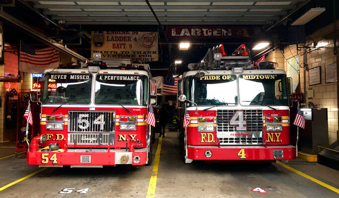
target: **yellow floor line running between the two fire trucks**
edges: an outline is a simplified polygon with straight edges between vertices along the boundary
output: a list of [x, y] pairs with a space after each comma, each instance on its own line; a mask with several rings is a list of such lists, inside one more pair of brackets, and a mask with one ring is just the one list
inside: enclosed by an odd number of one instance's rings
[[155, 187], [156, 187], [156, 179], [158, 174], [159, 160], [160, 160], [160, 150], [162, 144], [162, 137], [159, 138], [158, 148], [156, 149], [153, 172], [148, 184], [147, 196], [146, 198], [154, 198], [155, 197]]

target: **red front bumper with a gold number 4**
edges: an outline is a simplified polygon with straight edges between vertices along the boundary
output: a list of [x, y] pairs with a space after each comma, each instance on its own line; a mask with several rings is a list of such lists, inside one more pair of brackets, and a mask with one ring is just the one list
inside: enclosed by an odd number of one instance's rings
[[[206, 150], [211, 152], [205, 156]], [[281, 152], [282, 151], [282, 152]], [[274, 152], [274, 154], [273, 154]], [[210, 154], [210, 153], [209, 153]], [[293, 146], [188, 146], [189, 160], [291, 160], [296, 158]]]

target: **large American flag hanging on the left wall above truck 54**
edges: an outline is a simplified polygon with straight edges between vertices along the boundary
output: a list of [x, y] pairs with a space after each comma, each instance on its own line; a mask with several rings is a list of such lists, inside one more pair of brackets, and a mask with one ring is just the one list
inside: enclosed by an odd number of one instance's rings
[[21, 42], [19, 70], [30, 73], [44, 72], [48, 68], [59, 66], [59, 51], [48, 47], [35, 49]]

